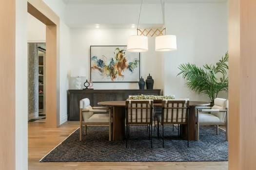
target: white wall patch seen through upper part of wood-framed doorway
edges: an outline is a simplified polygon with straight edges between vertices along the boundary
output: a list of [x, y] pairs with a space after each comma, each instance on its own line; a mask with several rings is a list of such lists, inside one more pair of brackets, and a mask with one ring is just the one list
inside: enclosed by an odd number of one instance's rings
[[45, 42], [46, 26], [27, 13], [27, 40], [28, 42]]

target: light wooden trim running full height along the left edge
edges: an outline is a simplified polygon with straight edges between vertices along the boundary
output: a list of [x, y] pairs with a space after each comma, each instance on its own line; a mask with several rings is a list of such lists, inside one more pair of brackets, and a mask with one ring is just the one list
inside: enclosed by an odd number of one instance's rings
[[15, 0], [1, 1], [0, 21], [0, 170], [15, 170]]

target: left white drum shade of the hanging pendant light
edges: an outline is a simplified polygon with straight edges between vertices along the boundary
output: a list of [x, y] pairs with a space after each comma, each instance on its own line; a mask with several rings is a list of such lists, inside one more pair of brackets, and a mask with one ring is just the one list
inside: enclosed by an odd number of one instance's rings
[[148, 37], [144, 35], [133, 35], [128, 38], [127, 51], [146, 52], [148, 51]]

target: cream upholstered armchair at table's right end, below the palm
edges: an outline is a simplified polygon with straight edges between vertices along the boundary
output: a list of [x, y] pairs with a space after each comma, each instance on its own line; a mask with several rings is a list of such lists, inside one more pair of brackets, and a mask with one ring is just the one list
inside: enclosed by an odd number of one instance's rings
[[228, 140], [228, 101], [226, 99], [216, 98], [214, 106], [196, 107], [197, 111], [197, 140], [199, 140], [199, 125], [215, 125], [216, 135], [218, 135], [218, 126], [226, 125], [226, 140]]

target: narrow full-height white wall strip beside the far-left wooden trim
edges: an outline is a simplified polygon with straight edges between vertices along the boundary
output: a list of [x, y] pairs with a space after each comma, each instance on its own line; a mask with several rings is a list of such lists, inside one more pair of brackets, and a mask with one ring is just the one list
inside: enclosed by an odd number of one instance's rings
[[[16, 170], [28, 169], [27, 1], [16, 0]], [[10, 107], [13, 107], [10, 103]]]

